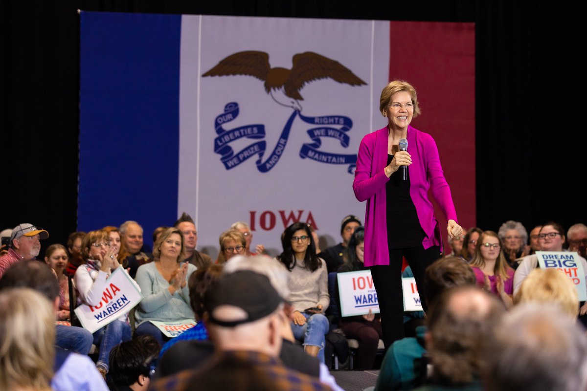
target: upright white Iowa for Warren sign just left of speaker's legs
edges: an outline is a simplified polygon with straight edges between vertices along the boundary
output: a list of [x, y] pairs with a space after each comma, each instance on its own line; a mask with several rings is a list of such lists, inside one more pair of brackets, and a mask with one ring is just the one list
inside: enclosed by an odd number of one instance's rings
[[340, 297], [340, 315], [351, 317], [353, 315], [379, 313], [379, 301], [373, 285], [370, 270], [348, 271], [337, 273], [338, 292]]

